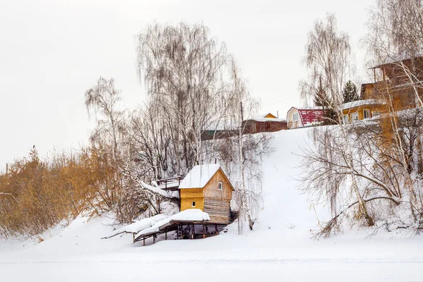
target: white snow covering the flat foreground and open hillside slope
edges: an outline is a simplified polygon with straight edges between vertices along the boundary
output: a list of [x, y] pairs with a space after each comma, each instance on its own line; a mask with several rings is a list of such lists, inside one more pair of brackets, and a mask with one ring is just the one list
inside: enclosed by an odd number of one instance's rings
[[[142, 247], [132, 235], [100, 240], [106, 217], [80, 217], [43, 234], [42, 243], [0, 241], [0, 281], [423, 281], [423, 238], [405, 233], [367, 237], [345, 231], [310, 240], [317, 216], [292, 179], [307, 130], [275, 134], [264, 161], [264, 201], [257, 229], [205, 240], [167, 240]], [[317, 207], [324, 219], [324, 207]]]

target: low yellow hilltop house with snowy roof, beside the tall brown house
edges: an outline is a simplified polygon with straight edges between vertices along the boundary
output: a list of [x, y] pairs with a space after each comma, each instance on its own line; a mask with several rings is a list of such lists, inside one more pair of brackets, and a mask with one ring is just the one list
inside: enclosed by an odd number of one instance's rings
[[344, 123], [361, 121], [386, 113], [386, 106], [376, 99], [365, 99], [343, 104]]

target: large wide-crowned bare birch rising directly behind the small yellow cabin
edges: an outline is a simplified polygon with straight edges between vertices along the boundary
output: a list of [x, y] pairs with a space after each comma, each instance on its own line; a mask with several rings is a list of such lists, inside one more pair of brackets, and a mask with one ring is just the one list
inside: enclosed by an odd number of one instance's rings
[[231, 105], [228, 70], [231, 55], [204, 25], [158, 24], [138, 36], [138, 75], [152, 104], [172, 131], [178, 173], [202, 163], [202, 131]]

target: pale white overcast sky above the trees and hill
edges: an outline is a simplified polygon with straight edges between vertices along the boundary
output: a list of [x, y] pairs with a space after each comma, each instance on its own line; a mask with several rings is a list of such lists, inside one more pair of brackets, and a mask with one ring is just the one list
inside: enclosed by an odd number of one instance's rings
[[86, 144], [94, 124], [84, 93], [100, 75], [115, 78], [125, 107], [141, 104], [135, 35], [154, 20], [202, 21], [235, 55], [262, 112], [285, 117], [300, 104], [307, 32], [327, 12], [349, 32], [366, 80], [360, 39], [373, 2], [0, 0], [0, 170], [32, 145], [44, 155]]

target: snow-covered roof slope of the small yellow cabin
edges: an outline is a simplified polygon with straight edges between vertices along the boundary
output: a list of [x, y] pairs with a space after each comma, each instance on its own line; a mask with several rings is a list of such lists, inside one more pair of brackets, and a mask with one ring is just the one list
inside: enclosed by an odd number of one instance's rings
[[220, 164], [202, 164], [200, 166], [194, 166], [187, 176], [183, 178], [179, 185], [179, 189], [203, 188], [219, 168], [221, 168]]

